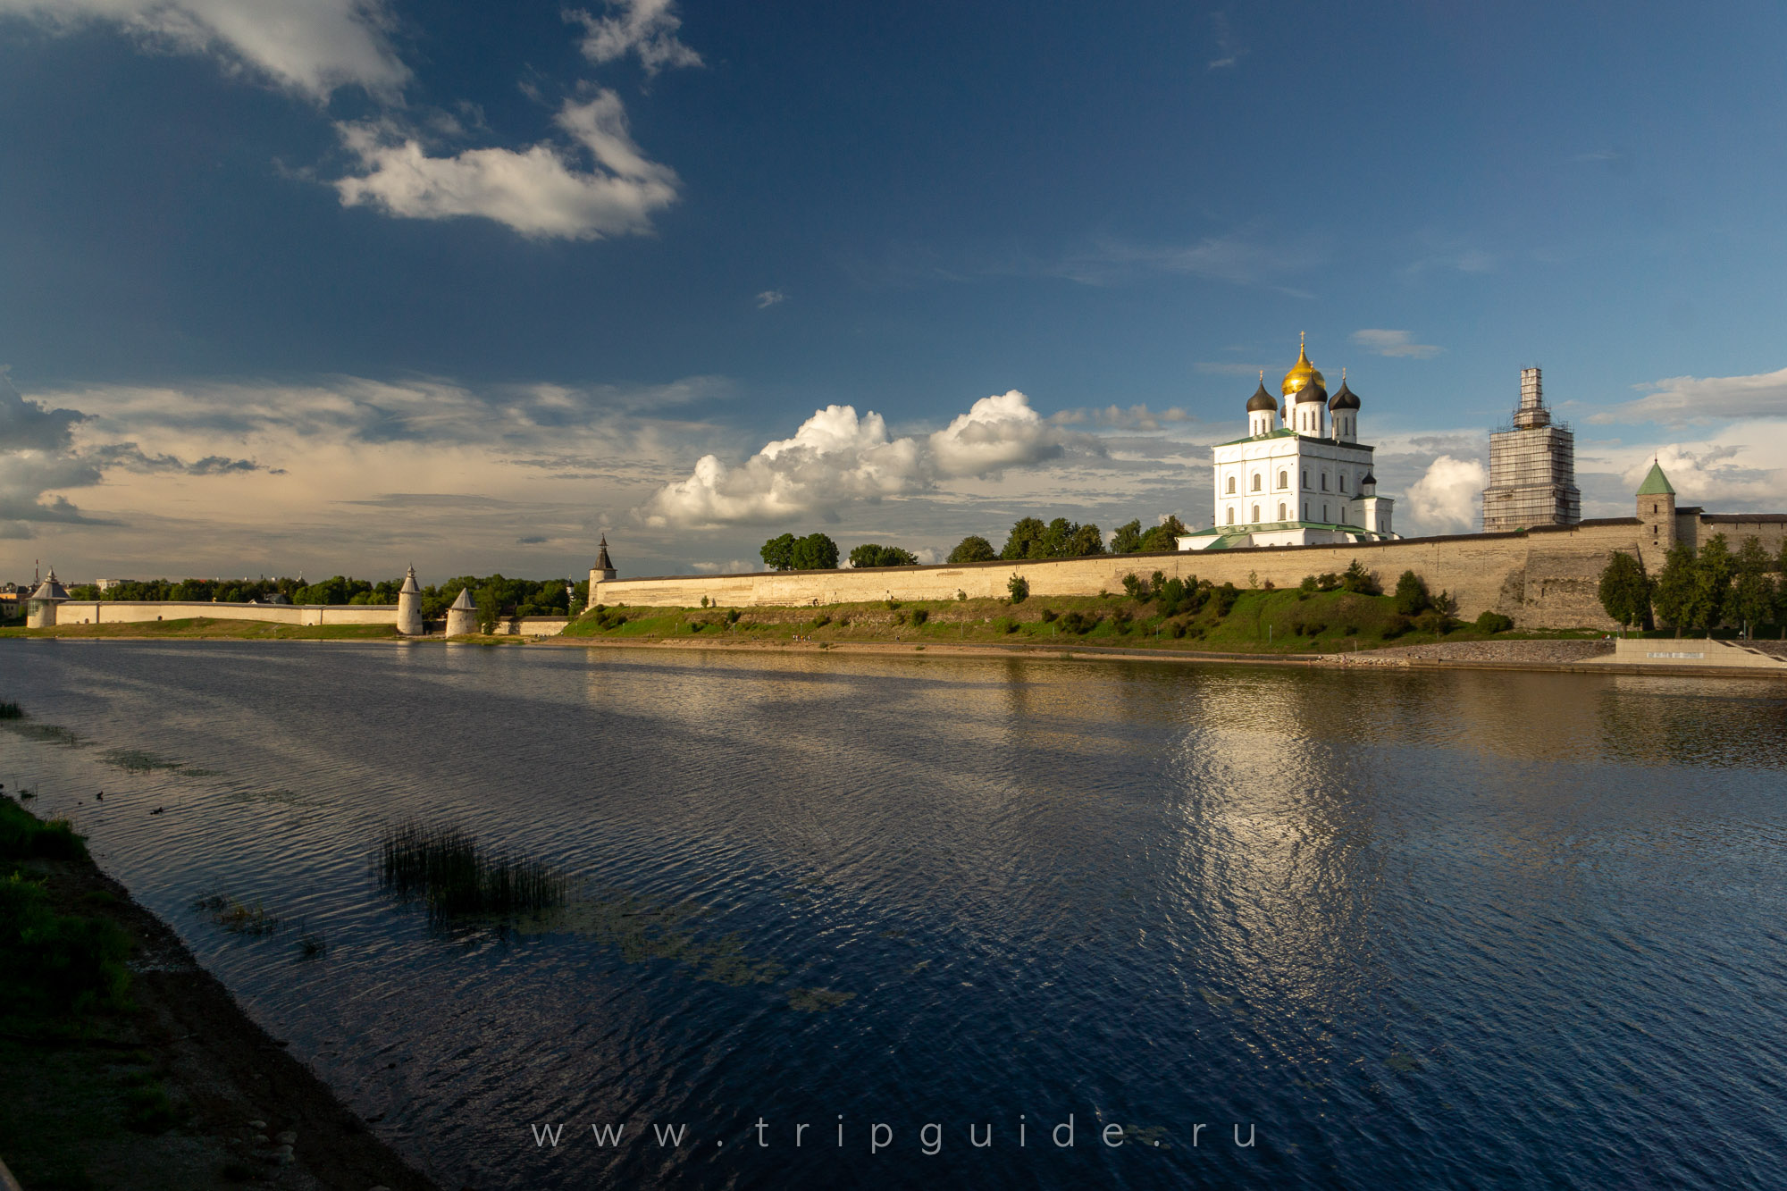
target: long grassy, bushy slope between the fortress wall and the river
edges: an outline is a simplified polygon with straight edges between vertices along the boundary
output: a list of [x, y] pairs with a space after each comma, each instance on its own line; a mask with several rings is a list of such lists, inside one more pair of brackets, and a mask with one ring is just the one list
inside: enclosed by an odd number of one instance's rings
[[[1170, 608], [1170, 612], [1169, 612]], [[1176, 604], [1128, 594], [881, 601], [817, 608], [597, 608], [566, 638], [1120, 647], [1176, 653], [1335, 653], [1435, 640], [1598, 637], [1587, 629], [1492, 633], [1437, 613], [1403, 617], [1390, 596], [1201, 587]]]

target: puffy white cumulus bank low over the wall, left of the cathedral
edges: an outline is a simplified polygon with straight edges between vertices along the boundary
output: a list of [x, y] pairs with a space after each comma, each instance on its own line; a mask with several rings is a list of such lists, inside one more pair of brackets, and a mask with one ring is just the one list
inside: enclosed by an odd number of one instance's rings
[[981, 397], [944, 429], [890, 438], [879, 413], [826, 406], [793, 438], [767, 443], [738, 467], [708, 454], [688, 479], [665, 485], [638, 511], [649, 526], [706, 528], [831, 511], [922, 492], [938, 479], [995, 476], [1061, 454], [1065, 433], [1024, 393]]

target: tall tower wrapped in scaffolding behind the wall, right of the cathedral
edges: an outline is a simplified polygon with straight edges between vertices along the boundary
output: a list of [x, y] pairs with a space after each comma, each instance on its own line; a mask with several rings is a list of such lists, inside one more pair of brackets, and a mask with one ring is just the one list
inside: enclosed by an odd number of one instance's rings
[[1489, 436], [1483, 533], [1574, 526], [1580, 520], [1576, 435], [1551, 420], [1539, 368], [1521, 368], [1521, 404], [1514, 424]]

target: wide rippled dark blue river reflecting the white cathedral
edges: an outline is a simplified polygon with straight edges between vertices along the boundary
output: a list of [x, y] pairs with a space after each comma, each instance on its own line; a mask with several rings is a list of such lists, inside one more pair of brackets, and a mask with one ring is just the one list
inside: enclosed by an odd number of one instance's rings
[[[7, 790], [449, 1187], [1760, 1187], [1787, 1153], [1776, 685], [32, 640], [0, 697]], [[570, 905], [431, 919], [375, 866], [415, 823]]]

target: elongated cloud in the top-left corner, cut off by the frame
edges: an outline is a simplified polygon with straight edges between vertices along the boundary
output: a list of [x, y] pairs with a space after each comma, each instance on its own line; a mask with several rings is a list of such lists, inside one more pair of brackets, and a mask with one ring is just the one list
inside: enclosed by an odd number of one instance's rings
[[107, 23], [157, 48], [209, 54], [316, 100], [340, 86], [395, 95], [384, 0], [0, 0], [0, 14], [54, 30]]

